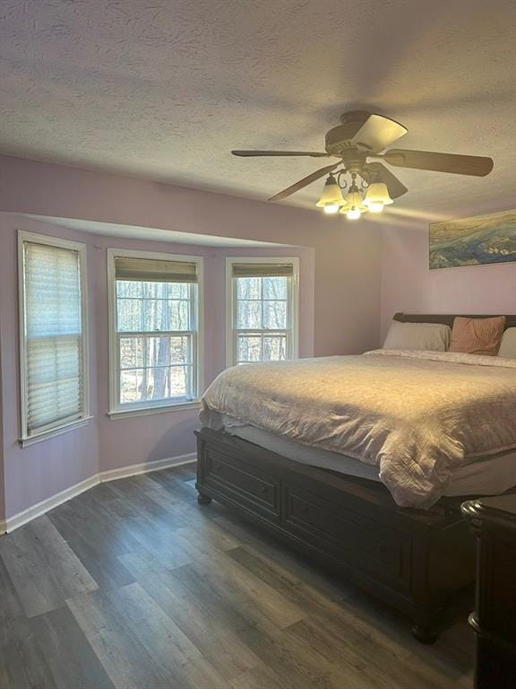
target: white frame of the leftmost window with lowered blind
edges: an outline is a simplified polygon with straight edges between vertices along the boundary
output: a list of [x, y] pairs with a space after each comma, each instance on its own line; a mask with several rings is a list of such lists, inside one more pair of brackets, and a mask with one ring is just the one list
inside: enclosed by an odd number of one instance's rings
[[[28, 432], [28, 387], [27, 387], [27, 337], [25, 336], [25, 251], [24, 244], [42, 244], [56, 249], [71, 249], [77, 251], [79, 258], [79, 276], [81, 285], [81, 375], [82, 375], [82, 414], [79, 418], [52, 426], [46, 430], [31, 433]], [[63, 240], [47, 234], [37, 232], [18, 231], [18, 319], [20, 333], [20, 442], [22, 447], [32, 445], [41, 440], [47, 440], [64, 432], [89, 423], [90, 415], [90, 336], [88, 318], [88, 266], [87, 246], [79, 241]]]

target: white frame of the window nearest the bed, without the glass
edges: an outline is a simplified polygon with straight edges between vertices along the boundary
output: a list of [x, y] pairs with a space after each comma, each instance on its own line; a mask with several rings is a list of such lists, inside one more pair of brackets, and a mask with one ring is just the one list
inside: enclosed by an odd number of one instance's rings
[[[226, 258], [226, 367], [236, 366], [236, 336], [239, 332], [235, 327], [236, 318], [236, 291], [235, 280], [233, 278], [233, 265], [240, 263], [257, 263], [257, 264], [292, 264], [292, 278], [289, 283], [287, 303], [290, 304], [288, 309], [290, 323], [287, 327], [287, 338], [290, 333], [291, 343], [288, 359], [297, 359], [299, 357], [299, 258], [298, 257], [243, 257], [232, 256]], [[260, 332], [257, 328], [254, 332]], [[273, 332], [272, 330], [264, 330], [261, 332]], [[284, 332], [284, 331], [282, 331]]]

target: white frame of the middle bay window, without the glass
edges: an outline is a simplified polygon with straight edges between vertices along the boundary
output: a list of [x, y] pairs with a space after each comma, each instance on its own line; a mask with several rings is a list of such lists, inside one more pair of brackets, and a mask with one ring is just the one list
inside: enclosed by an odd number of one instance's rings
[[[116, 270], [115, 258], [150, 258], [161, 261], [182, 261], [194, 263], [197, 269], [197, 299], [195, 300], [195, 315], [197, 330], [188, 331], [193, 336], [193, 392], [192, 400], [181, 400], [180, 402], [170, 402], [166, 400], [156, 400], [147, 402], [134, 402], [120, 404], [120, 348], [118, 340], [120, 336], [131, 336], [132, 332], [118, 333], [116, 328]], [[201, 256], [187, 256], [185, 254], [168, 254], [167, 252], [140, 251], [138, 249], [107, 249], [107, 311], [109, 329], [109, 406], [107, 415], [111, 419], [127, 418], [130, 416], [142, 416], [147, 414], [160, 414], [163, 412], [173, 412], [182, 409], [198, 408], [200, 406], [200, 395], [204, 381], [204, 261]], [[138, 331], [136, 335], [142, 331]], [[156, 331], [159, 333], [162, 331]], [[171, 331], [170, 331], [171, 332]], [[186, 332], [186, 331], [185, 331]], [[147, 335], [156, 336], [156, 333], [149, 331]], [[135, 335], [135, 336], [136, 336]], [[177, 335], [181, 335], [177, 332]]]

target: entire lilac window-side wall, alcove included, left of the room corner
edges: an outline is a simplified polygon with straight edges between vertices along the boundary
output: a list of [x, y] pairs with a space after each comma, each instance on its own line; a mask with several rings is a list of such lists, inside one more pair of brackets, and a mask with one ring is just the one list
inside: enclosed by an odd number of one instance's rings
[[[300, 353], [353, 353], [379, 340], [380, 235], [366, 222], [193, 189], [0, 156], [0, 350], [4, 400], [4, 513], [21, 510], [117, 467], [193, 451], [196, 412], [111, 421], [107, 418], [107, 246], [205, 257], [206, 383], [224, 367], [224, 263], [229, 254], [300, 257]], [[56, 228], [15, 214], [72, 217], [176, 231], [271, 240], [297, 248], [210, 249], [164, 242], [107, 239]], [[19, 371], [17, 228], [88, 244], [91, 320], [91, 411], [85, 427], [22, 449], [18, 438]], [[97, 381], [99, 387], [97, 389]], [[0, 499], [0, 510], [2, 502]], [[2, 511], [0, 511], [2, 519]]]

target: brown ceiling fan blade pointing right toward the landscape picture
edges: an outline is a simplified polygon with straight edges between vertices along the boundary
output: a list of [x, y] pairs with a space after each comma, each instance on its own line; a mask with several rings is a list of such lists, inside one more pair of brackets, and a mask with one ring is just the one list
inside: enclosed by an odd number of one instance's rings
[[399, 168], [452, 172], [456, 175], [485, 177], [493, 170], [493, 159], [478, 155], [455, 155], [431, 151], [404, 151], [392, 148], [383, 154], [383, 160]]

